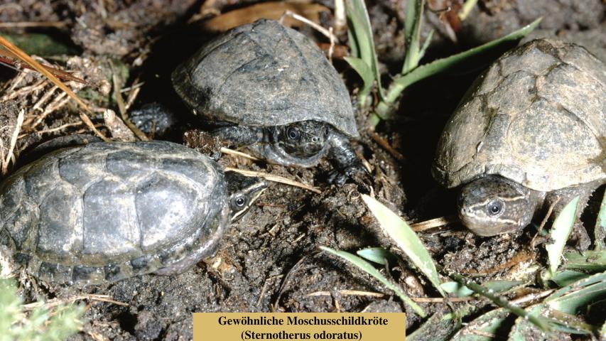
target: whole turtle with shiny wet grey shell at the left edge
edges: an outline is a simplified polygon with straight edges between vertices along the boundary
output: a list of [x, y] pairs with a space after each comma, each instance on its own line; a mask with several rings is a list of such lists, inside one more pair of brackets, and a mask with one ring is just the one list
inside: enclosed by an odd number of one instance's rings
[[62, 148], [0, 184], [0, 258], [49, 283], [179, 274], [264, 188], [168, 141]]

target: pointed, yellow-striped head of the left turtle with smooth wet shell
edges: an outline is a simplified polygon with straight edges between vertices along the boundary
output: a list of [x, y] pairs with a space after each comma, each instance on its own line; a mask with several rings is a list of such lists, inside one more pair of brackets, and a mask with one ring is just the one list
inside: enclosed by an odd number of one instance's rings
[[225, 182], [229, 193], [231, 220], [235, 222], [254, 204], [267, 188], [264, 178], [242, 175], [234, 171], [225, 172]]

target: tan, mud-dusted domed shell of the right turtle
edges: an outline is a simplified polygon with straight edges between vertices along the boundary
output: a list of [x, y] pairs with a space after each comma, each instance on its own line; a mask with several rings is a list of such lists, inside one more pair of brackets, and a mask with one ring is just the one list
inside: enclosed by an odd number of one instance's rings
[[585, 48], [533, 40], [475, 81], [445, 126], [433, 174], [482, 174], [551, 191], [606, 178], [606, 67]]

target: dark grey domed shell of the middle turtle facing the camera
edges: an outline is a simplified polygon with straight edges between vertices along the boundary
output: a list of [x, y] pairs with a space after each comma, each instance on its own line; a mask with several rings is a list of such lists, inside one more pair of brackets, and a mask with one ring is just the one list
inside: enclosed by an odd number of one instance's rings
[[335, 68], [315, 43], [277, 21], [227, 31], [172, 77], [180, 97], [207, 119], [248, 126], [316, 120], [359, 136]]

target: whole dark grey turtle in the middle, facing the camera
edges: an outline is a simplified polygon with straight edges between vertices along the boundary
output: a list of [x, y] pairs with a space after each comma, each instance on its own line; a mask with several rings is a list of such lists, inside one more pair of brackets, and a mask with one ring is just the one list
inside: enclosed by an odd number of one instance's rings
[[326, 156], [330, 183], [366, 177], [350, 144], [359, 132], [349, 92], [302, 33], [267, 19], [232, 28], [171, 78], [217, 139], [284, 166], [312, 167]]

